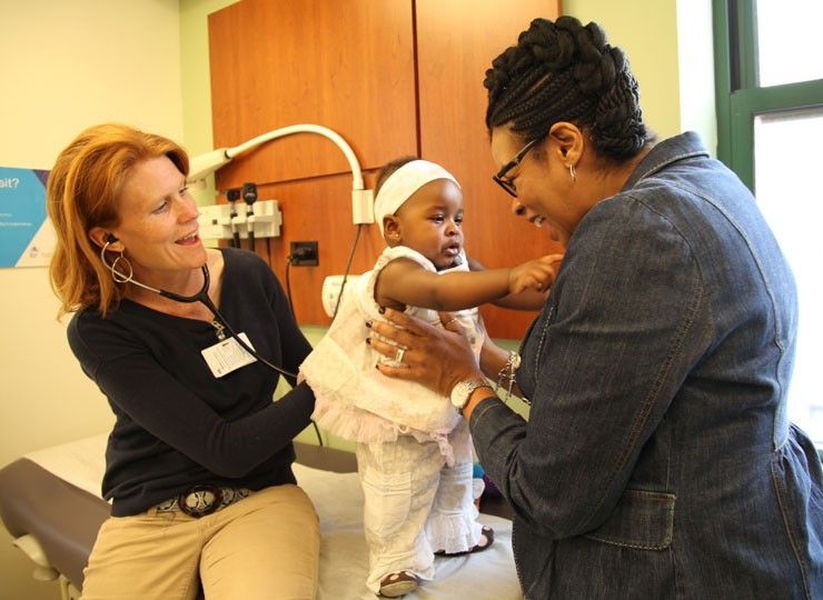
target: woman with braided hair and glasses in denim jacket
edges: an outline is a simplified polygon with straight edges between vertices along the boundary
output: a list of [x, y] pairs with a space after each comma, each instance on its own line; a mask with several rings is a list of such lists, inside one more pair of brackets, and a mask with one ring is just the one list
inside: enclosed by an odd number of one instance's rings
[[370, 343], [462, 407], [525, 597], [823, 598], [823, 470], [786, 418], [797, 298], [754, 198], [696, 134], [654, 140], [596, 23], [536, 19], [484, 84], [494, 180], [566, 249], [548, 299], [519, 356], [487, 341], [478, 366], [390, 309]]

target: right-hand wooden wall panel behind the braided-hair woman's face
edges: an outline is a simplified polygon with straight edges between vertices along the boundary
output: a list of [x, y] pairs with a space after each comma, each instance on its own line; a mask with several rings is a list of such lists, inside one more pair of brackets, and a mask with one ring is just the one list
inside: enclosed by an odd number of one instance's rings
[[[415, 6], [422, 156], [443, 164], [463, 187], [467, 253], [492, 268], [558, 252], [545, 230], [512, 214], [510, 198], [492, 181], [483, 79], [532, 19], [558, 17], [559, 0], [417, 0]], [[535, 317], [495, 307], [482, 312], [498, 338], [520, 339]]]

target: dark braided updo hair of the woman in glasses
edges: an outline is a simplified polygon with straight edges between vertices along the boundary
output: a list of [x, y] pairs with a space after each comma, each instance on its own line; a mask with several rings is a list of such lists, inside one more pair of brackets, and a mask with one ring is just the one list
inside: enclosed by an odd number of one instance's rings
[[525, 139], [538, 139], [557, 121], [584, 130], [596, 150], [622, 161], [637, 154], [651, 133], [643, 124], [637, 80], [619, 48], [597, 23], [574, 17], [535, 19], [517, 46], [492, 62], [486, 127], [510, 122]]

